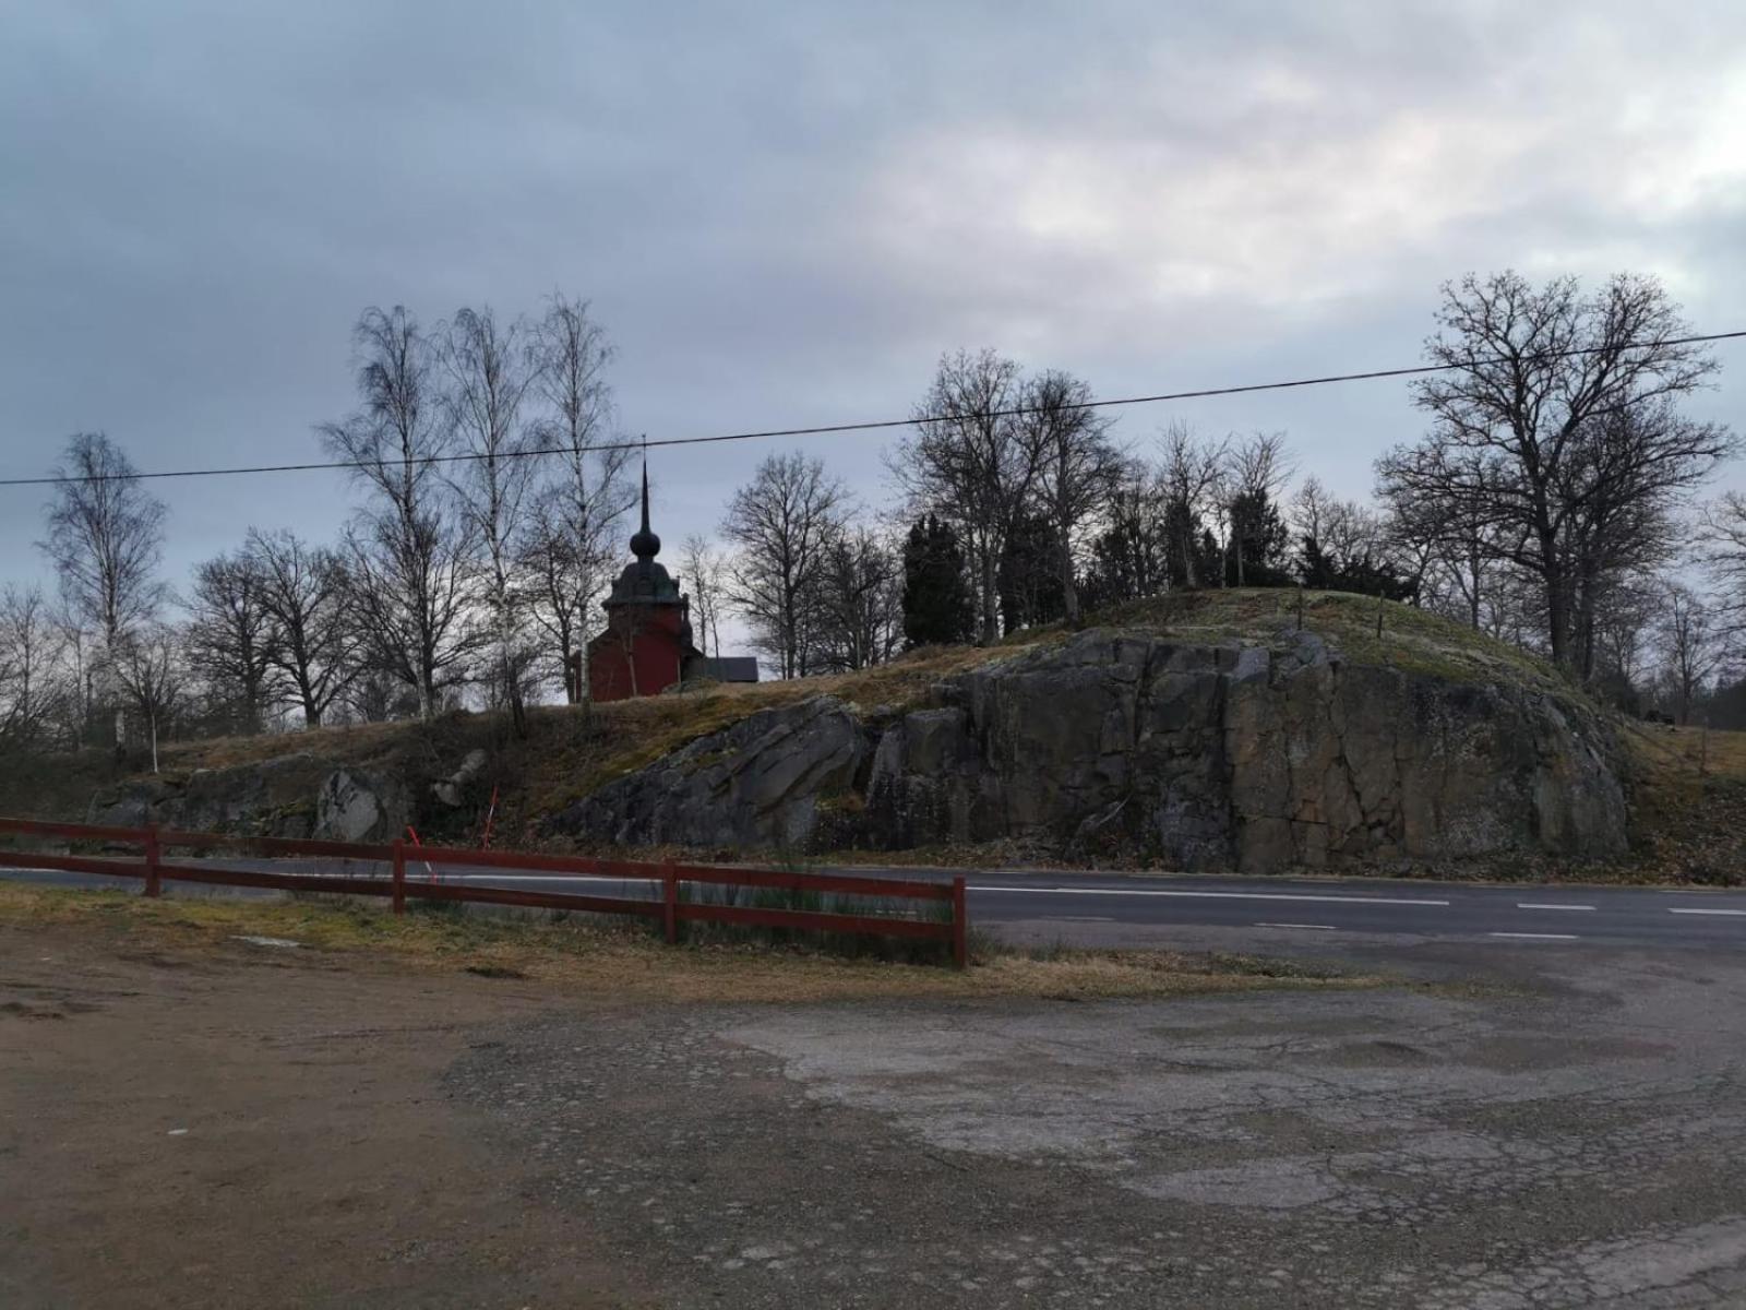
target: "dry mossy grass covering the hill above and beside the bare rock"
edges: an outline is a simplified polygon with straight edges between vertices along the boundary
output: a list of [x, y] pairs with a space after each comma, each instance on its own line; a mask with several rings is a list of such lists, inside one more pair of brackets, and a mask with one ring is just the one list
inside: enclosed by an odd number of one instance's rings
[[[1301, 610], [1299, 610], [1301, 606]], [[1100, 627], [1184, 643], [1289, 643], [1299, 622], [1346, 660], [1397, 667], [1453, 681], [1514, 683], [1580, 699], [1550, 664], [1507, 643], [1411, 606], [1341, 592], [1213, 590], [1117, 606], [1093, 620]], [[595, 706], [588, 713], [548, 706], [529, 716], [529, 735], [515, 739], [498, 716], [456, 713], [435, 723], [374, 723], [169, 742], [164, 776], [260, 763], [292, 753], [323, 762], [393, 772], [417, 791], [445, 777], [471, 749], [487, 753], [484, 774], [456, 810], [421, 812], [431, 838], [477, 835], [492, 788], [498, 789], [499, 845], [534, 844], [534, 824], [602, 783], [641, 769], [686, 742], [760, 709], [829, 693], [864, 709], [924, 704], [931, 688], [955, 672], [1065, 641], [1065, 627], [1014, 634], [990, 648], [924, 648], [864, 672], [705, 686]], [[1629, 863], [1587, 875], [1746, 882], [1746, 734], [1701, 734], [1653, 725], [1620, 725], [1633, 791], [1634, 852]], [[108, 753], [0, 760], [0, 812], [84, 817], [91, 796], [138, 767]], [[974, 852], [934, 852], [966, 859]], [[1526, 872], [1526, 870], [1524, 870]], [[1557, 870], [1542, 870], [1552, 872]]]

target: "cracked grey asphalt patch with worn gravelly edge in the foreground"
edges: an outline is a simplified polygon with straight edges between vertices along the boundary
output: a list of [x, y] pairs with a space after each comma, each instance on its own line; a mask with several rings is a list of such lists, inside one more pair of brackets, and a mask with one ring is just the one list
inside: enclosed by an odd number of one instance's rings
[[1367, 992], [546, 1015], [443, 1088], [662, 1305], [1746, 1305], [1746, 961], [1409, 964]]

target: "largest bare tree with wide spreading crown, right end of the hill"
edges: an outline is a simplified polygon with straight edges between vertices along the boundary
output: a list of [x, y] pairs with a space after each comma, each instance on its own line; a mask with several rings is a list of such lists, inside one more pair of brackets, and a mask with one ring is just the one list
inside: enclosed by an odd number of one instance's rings
[[[1667, 421], [1704, 386], [1715, 356], [1681, 344], [1690, 328], [1659, 283], [1615, 276], [1596, 295], [1571, 278], [1535, 288], [1514, 272], [1444, 286], [1432, 363], [1414, 384], [1433, 417], [1416, 447], [1385, 456], [1393, 498], [1451, 505], [1491, 529], [1488, 541], [1531, 575], [1552, 658], [1582, 672], [1584, 582], [1617, 536], [1584, 531], [1603, 503], [1617, 524], [1702, 482], [1734, 447], [1713, 424]], [[1641, 416], [1631, 440], [1610, 416]], [[1653, 421], [1648, 421], [1653, 419]]]

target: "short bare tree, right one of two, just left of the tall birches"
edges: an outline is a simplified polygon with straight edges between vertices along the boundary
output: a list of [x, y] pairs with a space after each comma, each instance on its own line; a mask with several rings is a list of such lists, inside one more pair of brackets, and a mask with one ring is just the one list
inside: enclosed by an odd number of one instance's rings
[[333, 550], [290, 531], [250, 529], [244, 554], [258, 578], [260, 606], [272, 617], [267, 658], [290, 685], [304, 727], [320, 728], [358, 676], [361, 634], [346, 613], [346, 566]]

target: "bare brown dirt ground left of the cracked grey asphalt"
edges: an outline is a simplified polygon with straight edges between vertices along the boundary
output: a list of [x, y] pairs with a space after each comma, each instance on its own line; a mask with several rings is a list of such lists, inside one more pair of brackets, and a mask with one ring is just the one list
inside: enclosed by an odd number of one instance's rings
[[550, 990], [0, 933], [0, 1305], [643, 1307], [438, 1090]]

